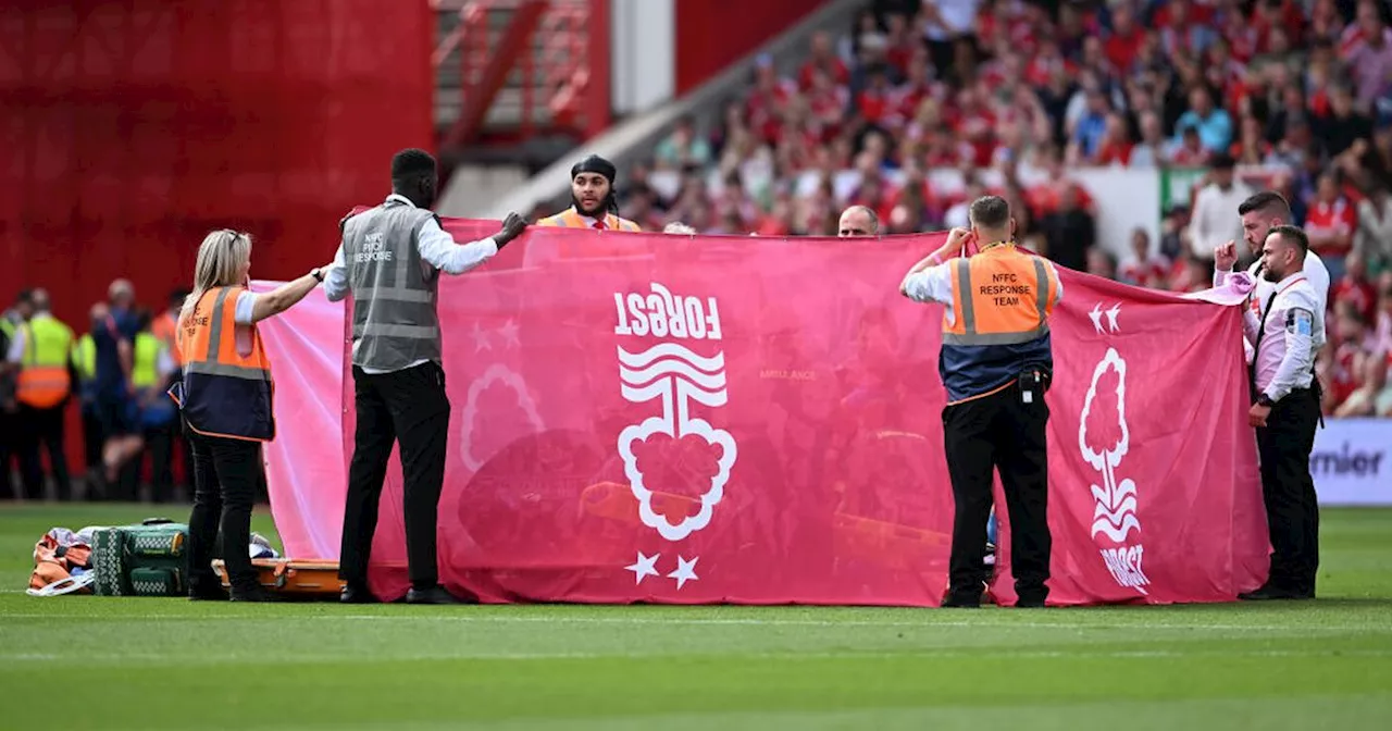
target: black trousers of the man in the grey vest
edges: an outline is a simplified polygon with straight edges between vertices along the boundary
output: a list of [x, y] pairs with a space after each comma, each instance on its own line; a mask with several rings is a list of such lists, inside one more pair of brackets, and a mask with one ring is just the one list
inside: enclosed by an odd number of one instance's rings
[[369, 375], [354, 366], [352, 377], [358, 429], [348, 466], [338, 576], [352, 585], [367, 582], [387, 461], [393, 443], [400, 441], [408, 572], [412, 586], [434, 586], [440, 581], [436, 525], [450, 430], [444, 370], [437, 363], [422, 363], [393, 373]]

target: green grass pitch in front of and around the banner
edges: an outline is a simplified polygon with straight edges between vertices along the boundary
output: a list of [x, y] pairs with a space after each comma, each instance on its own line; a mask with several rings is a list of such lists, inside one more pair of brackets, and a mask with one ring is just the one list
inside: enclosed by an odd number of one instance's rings
[[[1392, 728], [1392, 510], [1327, 510], [1321, 599], [1176, 607], [408, 607], [33, 599], [0, 504], [0, 730]], [[271, 535], [270, 518], [256, 529]]]

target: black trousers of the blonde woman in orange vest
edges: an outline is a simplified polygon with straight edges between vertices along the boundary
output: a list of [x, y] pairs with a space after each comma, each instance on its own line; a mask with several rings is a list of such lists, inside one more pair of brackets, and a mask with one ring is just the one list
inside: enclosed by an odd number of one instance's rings
[[[193, 512], [188, 518], [189, 590], [219, 586], [210, 563], [220, 553], [234, 592], [256, 590], [248, 544], [252, 503], [266, 465], [259, 441], [209, 437], [189, 432], [193, 447]], [[223, 546], [217, 535], [221, 528]]]

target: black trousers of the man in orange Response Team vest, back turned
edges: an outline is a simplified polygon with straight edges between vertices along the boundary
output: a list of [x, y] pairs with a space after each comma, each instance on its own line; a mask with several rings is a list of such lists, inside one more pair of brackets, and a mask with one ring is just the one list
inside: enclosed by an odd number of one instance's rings
[[1011, 515], [1011, 568], [1020, 600], [1048, 596], [1048, 407], [1043, 388], [1025, 402], [1020, 384], [942, 409], [942, 436], [956, 511], [952, 521], [951, 593], [980, 597], [986, 578], [986, 524], [991, 473], [1001, 471]]

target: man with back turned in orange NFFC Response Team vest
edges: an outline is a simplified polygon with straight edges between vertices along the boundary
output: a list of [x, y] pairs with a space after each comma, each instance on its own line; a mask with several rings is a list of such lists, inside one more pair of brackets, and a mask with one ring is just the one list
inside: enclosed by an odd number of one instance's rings
[[[940, 302], [938, 372], [948, 391], [942, 440], [952, 478], [955, 518], [945, 607], [976, 607], [990, 585], [984, 567], [992, 472], [999, 469], [1011, 517], [1011, 568], [1016, 606], [1048, 597], [1048, 407], [1054, 370], [1048, 319], [1063, 297], [1054, 265], [1011, 241], [1015, 219], [1002, 198], [972, 203], [972, 231], [954, 228], [947, 244], [909, 270], [899, 291]], [[956, 258], [976, 238], [990, 242]]]

